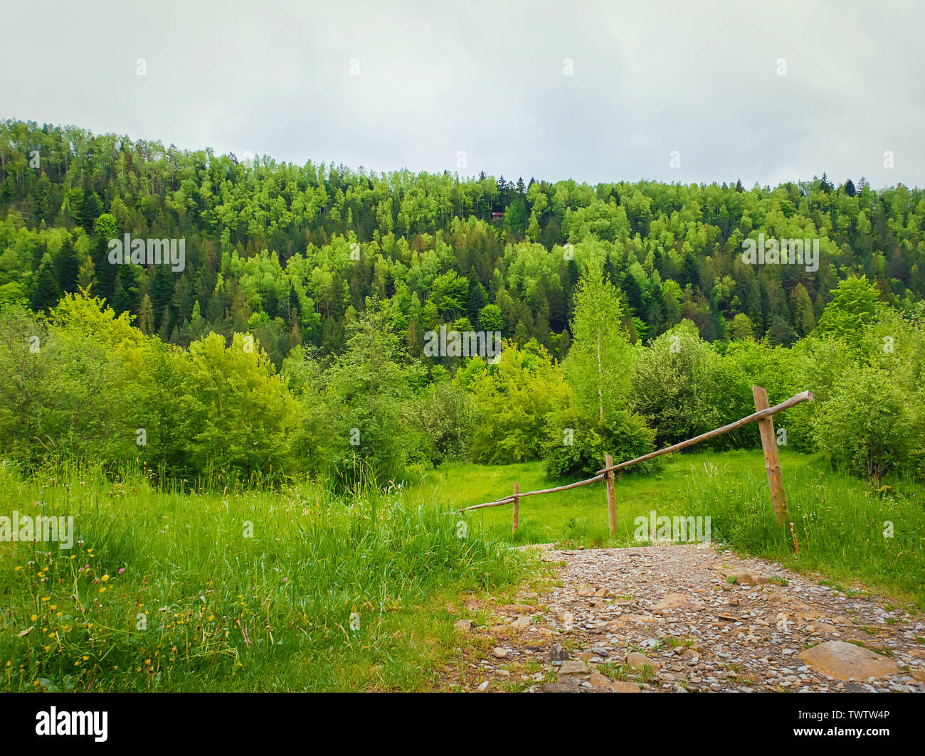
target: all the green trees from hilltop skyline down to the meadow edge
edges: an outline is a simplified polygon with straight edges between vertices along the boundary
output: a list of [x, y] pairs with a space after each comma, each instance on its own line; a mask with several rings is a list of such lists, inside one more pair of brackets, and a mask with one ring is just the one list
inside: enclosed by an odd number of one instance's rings
[[[0, 213], [0, 444], [29, 464], [578, 474], [760, 383], [816, 391], [791, 445], [922, 469], [922, 189], [376, 175], [6, 121]], [[818, 267], [746, 264], [759, 234], [818, 240]], [[124, 235], [182, 239], [182, 269], [111, 264]], [[505, 349], [428, 356], [442, 325]]]

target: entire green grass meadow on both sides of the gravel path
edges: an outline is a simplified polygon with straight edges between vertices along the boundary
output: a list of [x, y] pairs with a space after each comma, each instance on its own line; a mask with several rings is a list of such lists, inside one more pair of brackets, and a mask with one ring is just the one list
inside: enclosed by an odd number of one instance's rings
[[652, 510], [709, 516], [712, 540], [742, 554], [925, 608], [920, 489], [873, 491], [786, 451], [782, 464], [792, 533], [774, 525], [760, 452], [742, 451], [618, 479], [613, 539], [602, 483], [525, 499], [514, 537], [510, 505], [455, 512], [514, 481], [555, 484], [541, 463], [448, 466], [349, 497], [157, 491], [141, 474], [68, 469], [23, 479], [0, 465], [0, 515], [73, 517], [75, 530], [68, 550], [0, 541], [0, 689], [431, 689], [476, 642], [454, 633], [448, 604], [503, 603], [539, 579], [511, 543], [635, 544]]

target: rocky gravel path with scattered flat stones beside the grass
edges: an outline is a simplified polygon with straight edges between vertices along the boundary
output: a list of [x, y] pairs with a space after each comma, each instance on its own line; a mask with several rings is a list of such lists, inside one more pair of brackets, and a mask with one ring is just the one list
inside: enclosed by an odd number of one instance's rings
[[540, 548], [561, 586], [457, 620], [488, 647], [462, 689], [925, 692], [925, 620], [887, 601], [713, 545]]

